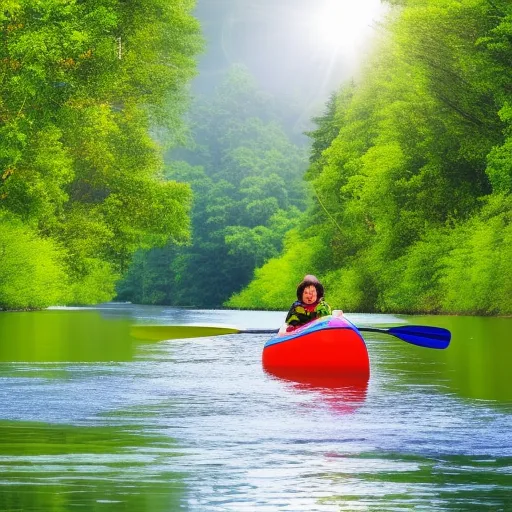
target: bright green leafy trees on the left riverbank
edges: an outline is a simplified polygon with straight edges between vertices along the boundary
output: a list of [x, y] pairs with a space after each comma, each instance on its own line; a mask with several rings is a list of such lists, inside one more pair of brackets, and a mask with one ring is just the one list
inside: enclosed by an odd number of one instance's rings
[[110, 300], [141, 248], [190, 238], [164, 176], [202, 49], [192, 0], [0, 9], [0, 307]]

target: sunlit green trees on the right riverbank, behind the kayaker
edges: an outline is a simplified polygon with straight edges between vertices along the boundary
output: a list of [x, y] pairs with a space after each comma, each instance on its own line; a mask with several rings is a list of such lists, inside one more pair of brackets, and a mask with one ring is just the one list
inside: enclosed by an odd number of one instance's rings
[[348, 311], [512, 313], [512, 4], [393, 3], [310, 133], [315, 205], [229, 306], [316, 273]]

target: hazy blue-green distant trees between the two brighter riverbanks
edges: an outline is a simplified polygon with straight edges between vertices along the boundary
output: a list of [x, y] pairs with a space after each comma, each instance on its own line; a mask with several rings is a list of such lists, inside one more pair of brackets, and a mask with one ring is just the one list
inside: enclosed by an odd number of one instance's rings
[[283, 101], [234, 66], [189, 113], [191, 140], [166, 159], [166, 176], [194, 192], [192, 243], [140, 251], [118, 299], [218, 307], [276, 257], [307, 203], [307, 152], [283, 125]]

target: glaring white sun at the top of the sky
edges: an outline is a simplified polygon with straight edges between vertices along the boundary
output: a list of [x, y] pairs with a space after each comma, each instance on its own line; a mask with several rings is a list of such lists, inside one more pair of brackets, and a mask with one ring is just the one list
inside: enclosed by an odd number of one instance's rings
[[326, 0], [311, 23], [312, 37], [325, 50], [352, 53], [367, 39], [383, 10], [380, 0]]

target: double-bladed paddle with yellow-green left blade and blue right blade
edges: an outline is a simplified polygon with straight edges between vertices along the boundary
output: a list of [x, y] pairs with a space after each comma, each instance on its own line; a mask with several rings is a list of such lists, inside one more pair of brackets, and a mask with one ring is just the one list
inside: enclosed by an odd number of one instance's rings
[[[442, 327], [422, 325], [404, 325], [379, 329], [377, 327], [358, 327], [362, 332], [390, 334], [402, 341], [419, 347], [443, 349], [450, 344], [451, 333]], [[277, 329], [237, 329], [235, 327], [216, 327], [202, 325], [134, 325], [131, 334], [134, 338], [160, 341], [184, 338], [202, 338], [223, 336], [225, 334], [276, 334]]]

